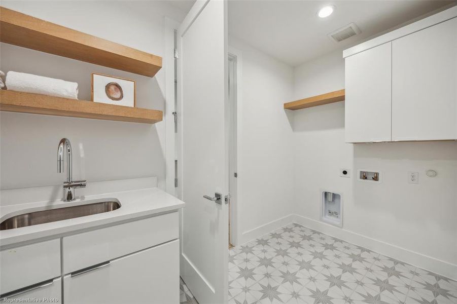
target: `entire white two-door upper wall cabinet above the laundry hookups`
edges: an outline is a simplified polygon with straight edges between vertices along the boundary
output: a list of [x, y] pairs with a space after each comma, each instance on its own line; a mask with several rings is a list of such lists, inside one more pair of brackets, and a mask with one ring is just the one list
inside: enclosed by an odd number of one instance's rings
[[346, 142], [457, 139], [457, 7], [343, 52]]

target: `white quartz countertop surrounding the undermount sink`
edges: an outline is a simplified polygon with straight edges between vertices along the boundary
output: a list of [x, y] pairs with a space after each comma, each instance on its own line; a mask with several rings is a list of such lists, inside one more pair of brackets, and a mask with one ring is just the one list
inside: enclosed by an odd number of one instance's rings
[[113, 211], [94, 215], [3, 230], [0, 231], [0, 245], [3, 247], [36, 239], [50, 238], [52, 236], [60, 237], [60, 235], [90, 229], [91, 227], [112, 224], [163, 212], [176, 211], [185, 205], [183, 201], [154, 187], [88, 195], [72, 202], [54, 200], [2, 206], [0, 207], [0, 221], [4, 221], [5, 219], [18, 214], [84, 205], [90, 203], [88, 201], [98, 199], [116, 199], [120, 202], [121, 207]]

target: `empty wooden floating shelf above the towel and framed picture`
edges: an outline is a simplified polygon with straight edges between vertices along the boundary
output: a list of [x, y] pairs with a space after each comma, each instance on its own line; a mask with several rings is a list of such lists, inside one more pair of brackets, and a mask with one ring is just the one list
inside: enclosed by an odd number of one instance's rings
[[0, 41], [153, 77], [162, 57], [0, 7]]

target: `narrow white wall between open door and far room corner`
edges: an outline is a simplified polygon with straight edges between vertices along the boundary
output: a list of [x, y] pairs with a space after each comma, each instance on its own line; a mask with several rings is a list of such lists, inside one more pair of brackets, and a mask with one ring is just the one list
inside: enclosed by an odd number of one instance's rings
[[229, 36], [242, 54], [238, 101], [238, 243], [270, 232], [293, 212], [293, 141], [283, 103], [293, 68]]

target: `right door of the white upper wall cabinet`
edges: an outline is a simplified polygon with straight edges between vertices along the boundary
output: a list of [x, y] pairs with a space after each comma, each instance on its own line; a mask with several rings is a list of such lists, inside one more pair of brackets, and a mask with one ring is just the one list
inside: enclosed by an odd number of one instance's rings
[[392, 140], [457, 139], [457, 18], [392, 43]]

